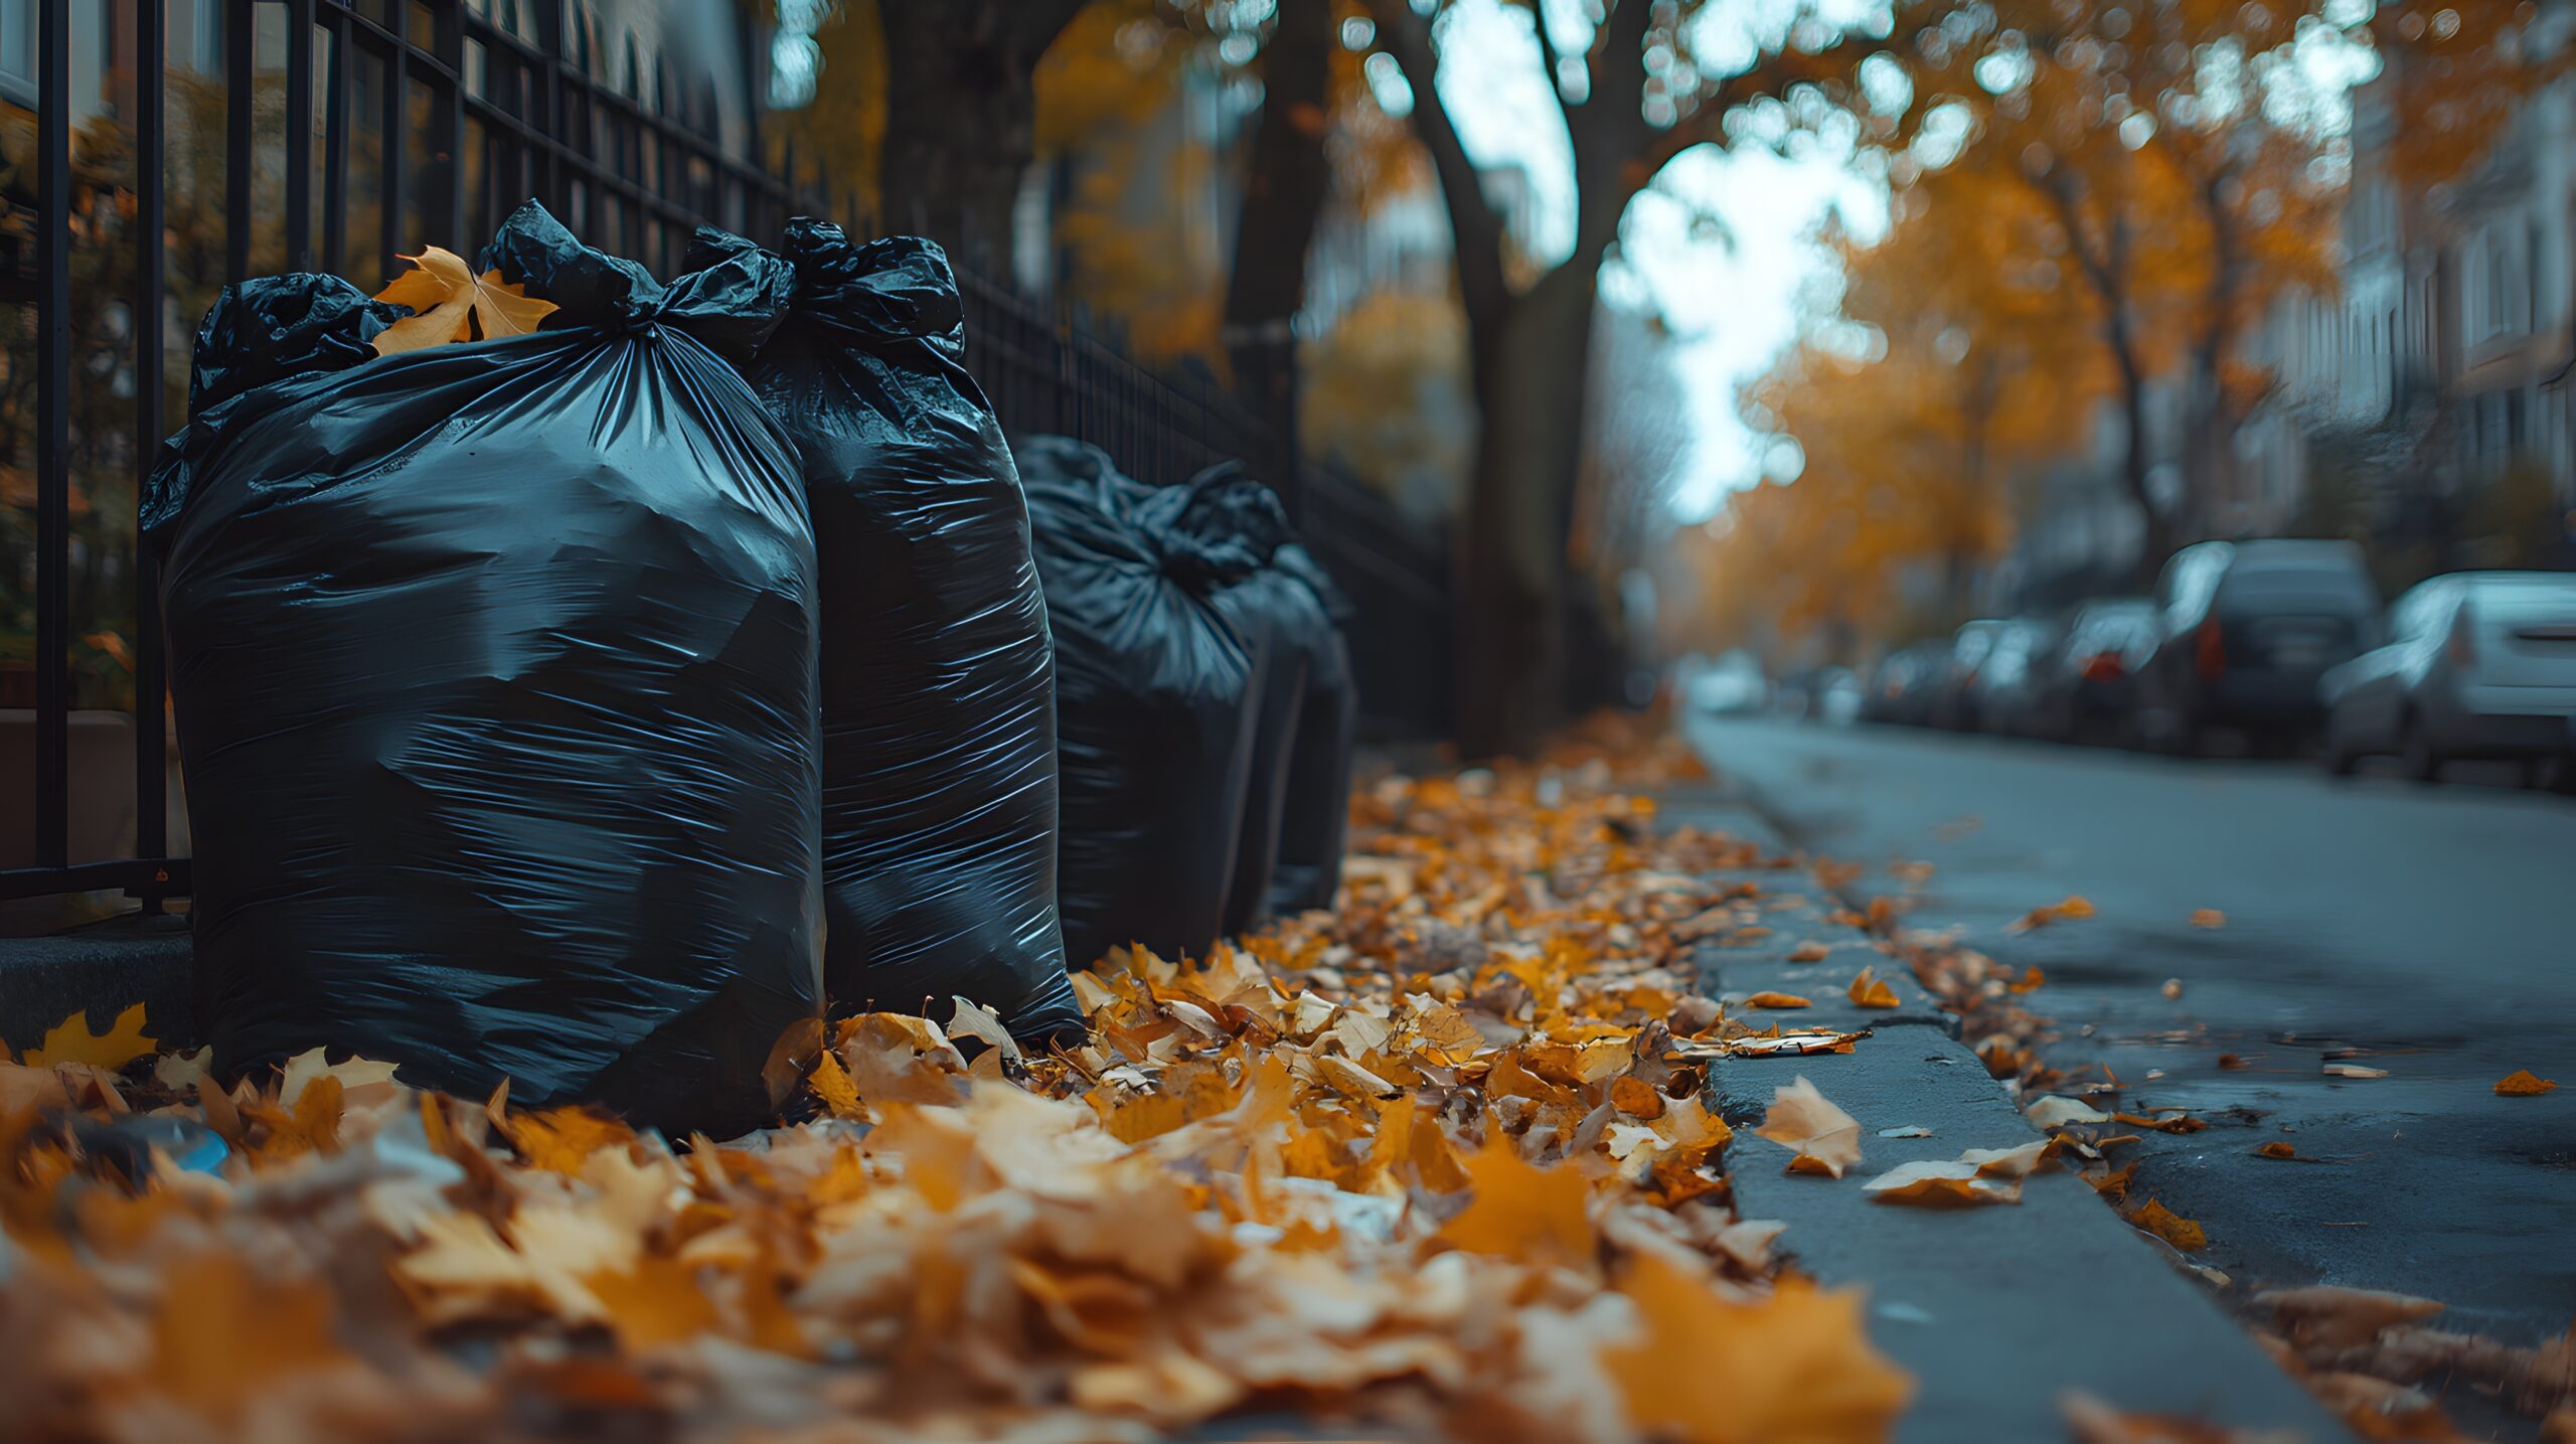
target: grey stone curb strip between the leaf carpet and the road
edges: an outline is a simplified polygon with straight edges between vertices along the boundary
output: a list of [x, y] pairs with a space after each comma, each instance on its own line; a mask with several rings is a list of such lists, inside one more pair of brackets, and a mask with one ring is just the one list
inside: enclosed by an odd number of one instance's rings
[[[1785, 852], [1777, 829], [1723, 782], [1667, 790], [1659, 808], [1667, 826], [1723, 829]], [[1775, 1014], [1783, 1024], [1873, 1035], [1842, 1055], [1716, 1068], [1716, 1102], [1736, 1127], [1728, 1145], [1736, 1210], [1785, 1220], [1780, 1248], [1808, 1274], [1868, 1287], [1870, 1336], [1917, 1377], [1899, 1439], [2063, 1439], [2066, 1390], [2123, 1411], [2287, 1431], [2311, 1444], [2349, 1439], [2342, 1421], [2177, 1272], [2159, 1241], [2128, 1228], [2081, 1179], [2038, 1174], [2020, 1205], [1973, 1210], [1870, 1202], [1862, 1184], [1899, 1163], [2014, 1148], [2040, 1135], [1906, 965], [1850, 921], [1832, 921], [1837, 901], [1811, 878], [1783, 870], [1741, 878], [1762, 885], [1770, 932], [1703, 945], [1705, 988], [1723, 999], [1798, 994], [1814, 1006]], [[1803, 942], [1824, 942], [1826, 955], [1793, 963]], [[1844, 986], [1862, 965], [1888, 978], [1896, 1009], [1850, 1004]], [[1772, 1089], [1795, 1076], [1860, 1120], [1862, 1163], [1842, 1179], [1790, 1176], [1790, 1153], [1752, 1135]], [[1927, 1135], [1880, 1138], [1917, 1127]]]

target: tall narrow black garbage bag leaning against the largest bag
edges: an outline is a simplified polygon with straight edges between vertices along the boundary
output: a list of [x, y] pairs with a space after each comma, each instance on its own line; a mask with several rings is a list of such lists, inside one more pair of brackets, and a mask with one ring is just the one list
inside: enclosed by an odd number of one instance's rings
[[[701, 229], [696, 260], [757, 247]], [[1002, 425], [935, 242], [788, 224], [744, 376], [804, 458], [822, 561], [824, 994], [961, 994], [1028, 1045], [1082, 1006], [1056, 921], [1056, 662]]]

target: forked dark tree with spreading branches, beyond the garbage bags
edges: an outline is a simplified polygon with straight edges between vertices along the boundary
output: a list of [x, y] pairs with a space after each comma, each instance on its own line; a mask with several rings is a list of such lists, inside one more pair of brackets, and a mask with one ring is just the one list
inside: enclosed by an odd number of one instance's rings
[[[1574, 160], [1574, 245], [1515, 273], [1502, 216], [1443, 100], [1448, 3], [1370, 0], [1378, 46], [1412, 85], [1412, 129], [1430, 152], [1450, 216], [1458, 299], [1479, 407], [1453, 638], [1458, 741], [1471, 757], [1517, 752], [1551, 726], [1564, 692], [1566, 538], [1587, 407], [1600, 268], [1628, 201], [1698, 144], [1726, 144], [1726, 116], [1790, 88], [1847, 88], [1888, 46], [1801, 13], [1762, 36], [1749, 64], [1703, 59], [1713, 5], [1605, 0], [1589, 36], [1558, 44], [1533, 15], [1535, 54]], [[1904, 26], [1901, 26], [1904, 31]]]

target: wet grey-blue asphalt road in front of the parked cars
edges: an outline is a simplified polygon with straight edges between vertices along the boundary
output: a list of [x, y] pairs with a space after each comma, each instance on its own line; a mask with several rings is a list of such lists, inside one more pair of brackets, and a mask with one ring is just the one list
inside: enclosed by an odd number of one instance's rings
[[[1868, 865], [1855, 888], [1904, 893], [1888, 865], [1932, 862], [1911, 924], [2040, 965], [2027, 1001], [2058, 1024], [2050, 1063], [2107, 1066], [2128, 1107], [2210, 1122], [2148, 1135], [2130, 1199], [2200, 1220], [2197, 1261], [2239, 1300], [2331, 1282], [2447, 1300], [2445, 1326], [2514, 1344], [2571, 1326], [2576, 801], [1883, 726], [1692, 726], [1790, 842]], [[2002, 932], [2069, 893], [2097, 916]], [[2226, 924], [2195, 927], [2195, 909]], [[2388, 1076], [2334, 1078], [2329, 1058]], [[2561, 1089], [2496, 1097], [2514, 1068]], [[2259, 1158], [2269, 1140], [2300, 1158]]]

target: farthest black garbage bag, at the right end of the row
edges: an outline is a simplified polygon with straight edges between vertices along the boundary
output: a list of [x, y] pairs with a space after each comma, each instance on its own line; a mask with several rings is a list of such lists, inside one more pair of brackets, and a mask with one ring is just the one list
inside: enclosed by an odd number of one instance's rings
[[[1229, 932], [1262, 911], [1332, 906], [1342, 885], [1342, 831], [1350, 819], [1350, 744], [1358, 690], [1342, 623], [1350, 602], [1324, 566], [1298, 546], [1278, 492], [1239, 461], [1211, 466], [1157, 497], [1172, 525], [1203, 541], [1239, 541], [1260, 571], [1216, 595], [1239, 631], [1260, 631], [1262, 736], [1244, 803], [1244, 855], [1234, 867]], [[1255, 620], [1257, 618], [1257, 620]], [[1247, 896], [1249, 893], [1249, 896]]]

